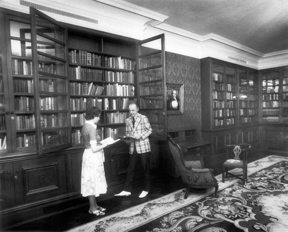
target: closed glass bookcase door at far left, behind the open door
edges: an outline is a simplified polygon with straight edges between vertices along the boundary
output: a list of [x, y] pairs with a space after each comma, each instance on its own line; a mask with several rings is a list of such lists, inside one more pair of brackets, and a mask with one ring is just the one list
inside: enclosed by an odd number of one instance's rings
[[8, 16], [5, 18], [7, 66], [11, 125], [12, 152], [36, 150], [35, 96], [31, 54], [30, 21]]

